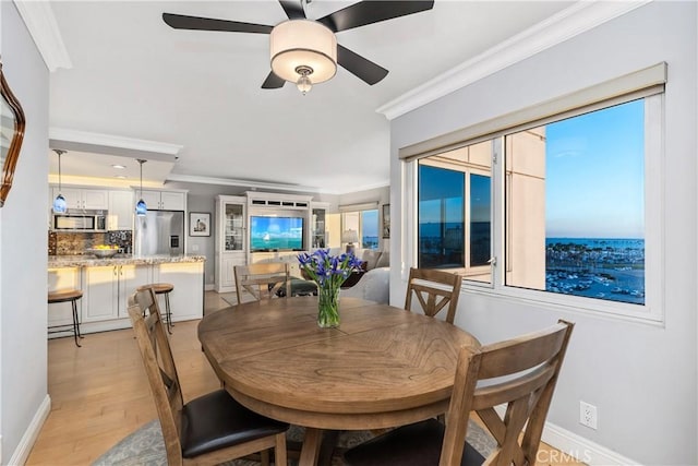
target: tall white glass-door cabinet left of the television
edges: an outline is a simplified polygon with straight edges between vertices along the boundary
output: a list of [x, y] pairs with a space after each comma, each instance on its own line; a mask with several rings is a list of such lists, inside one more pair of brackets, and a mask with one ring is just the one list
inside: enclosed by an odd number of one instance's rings
[[216, 291], [236, 289], [233, 267], [246, 263], [246, 215], [248, 200], [242, 196], [219, 195], [216, 198]]

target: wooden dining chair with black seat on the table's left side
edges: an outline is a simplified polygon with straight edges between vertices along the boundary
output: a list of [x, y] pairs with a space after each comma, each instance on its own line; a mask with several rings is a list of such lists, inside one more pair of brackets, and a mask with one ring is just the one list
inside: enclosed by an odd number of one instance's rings
[[286, 466], [288, 423], [249, 410], [225, 390], [183, 403], [152, 288], [129, 297], [129, 315], [160, 420], [168, 465], [216, 465], [261, 452], [262, 464], [268, 466], [268, 450], [274, 449], [275, 464]]

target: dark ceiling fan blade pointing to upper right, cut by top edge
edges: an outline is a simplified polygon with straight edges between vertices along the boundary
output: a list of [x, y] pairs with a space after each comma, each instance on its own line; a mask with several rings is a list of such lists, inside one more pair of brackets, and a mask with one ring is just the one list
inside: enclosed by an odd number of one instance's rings
[[364, 0], [317, 20], [335, 33], [431, 10], [434, 1]]

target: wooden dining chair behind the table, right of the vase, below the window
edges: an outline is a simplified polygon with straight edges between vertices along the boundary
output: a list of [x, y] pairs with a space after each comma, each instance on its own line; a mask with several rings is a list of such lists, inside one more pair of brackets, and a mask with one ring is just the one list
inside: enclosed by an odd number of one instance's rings
[[453, 324], [456, 319], [461, 282], [460, 275], [450, 272], [411, 267], [407, 282], [405, 309], [412, 310], [412, 295], [414, 295], [422, 311], [430, 318], [448, 306], [446, 322]]

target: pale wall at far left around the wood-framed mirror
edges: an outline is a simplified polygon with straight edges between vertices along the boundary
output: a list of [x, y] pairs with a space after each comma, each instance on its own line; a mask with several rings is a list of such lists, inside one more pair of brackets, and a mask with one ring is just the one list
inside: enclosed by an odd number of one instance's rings
[[2, 9], [2, 70], [26, 132], [0, 225], [0, 429], [7, 464], [47, 397], [48, 70], [13, 2]]

